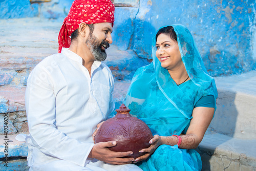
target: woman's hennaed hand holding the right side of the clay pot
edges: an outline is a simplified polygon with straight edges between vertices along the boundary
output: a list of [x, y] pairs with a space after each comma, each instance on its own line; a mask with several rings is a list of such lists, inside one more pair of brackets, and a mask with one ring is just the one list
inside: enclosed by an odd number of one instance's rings
[[159, 147], [159, 145], [162, 145], [161, 137], [159, 135], [154, 135], [154, 137], [150, 140], [150, 144], [151, 144], [150, 147], [141, 149], [140, 153], [145, 153], [145, 154], [143, 156], [136, 158], [133, 163], [140, 162], [150, 157], [150, 155], [152, 155], [155, 152], [157, 147]]

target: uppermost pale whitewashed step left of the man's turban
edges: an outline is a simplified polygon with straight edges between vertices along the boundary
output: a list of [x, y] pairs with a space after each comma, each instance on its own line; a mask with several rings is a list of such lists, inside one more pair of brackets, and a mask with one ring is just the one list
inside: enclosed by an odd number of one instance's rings
[[5, 46], [31, 48], [58, 47], [58, 33], [62, 22], [34, 17], [0, 19], [0, 23], [1, 48]]

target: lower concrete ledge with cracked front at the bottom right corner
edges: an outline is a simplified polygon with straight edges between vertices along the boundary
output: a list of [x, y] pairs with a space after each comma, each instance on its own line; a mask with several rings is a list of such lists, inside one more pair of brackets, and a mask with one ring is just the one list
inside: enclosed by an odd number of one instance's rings
[[222, 134], [205, 135], [197, 151], [202, 170], [256, 170], [256, 140], [244, 140]]

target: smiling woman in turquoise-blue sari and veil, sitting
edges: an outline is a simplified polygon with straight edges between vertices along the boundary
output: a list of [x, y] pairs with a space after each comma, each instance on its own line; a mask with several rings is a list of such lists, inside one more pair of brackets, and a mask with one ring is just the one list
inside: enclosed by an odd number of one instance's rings
[[153, 62], [136, 71], [124, 102], [154, 135], [135, 163], [143, 170], [201, 170], [194, 148], [214, 117], [214, 78], [185, 26], [160, 28], [153, 47]]

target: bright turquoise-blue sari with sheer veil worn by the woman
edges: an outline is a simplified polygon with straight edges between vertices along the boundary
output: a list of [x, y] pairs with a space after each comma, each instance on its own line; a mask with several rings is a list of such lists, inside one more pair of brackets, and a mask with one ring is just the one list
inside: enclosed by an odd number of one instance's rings
[[[153, 135], [172, 136], [186, 133], [195, 104], [200, 98], [214, 95], [214, 78], [208, 75], [193, 36], [183, 25], [172, 25], [182, 61], [190, 80], [177, 86], [156, 57], [153, 37], [153, 62], [139, 68], [126, 94], [125, 105], [130, 114], [144, 121]], [[216, 105], [215, 105], [216, 109]], [[160, 145], [154, 154], [137, 165], [143, 170], [201, 170], [200, 155], [194, 149], [178, 145]]]

